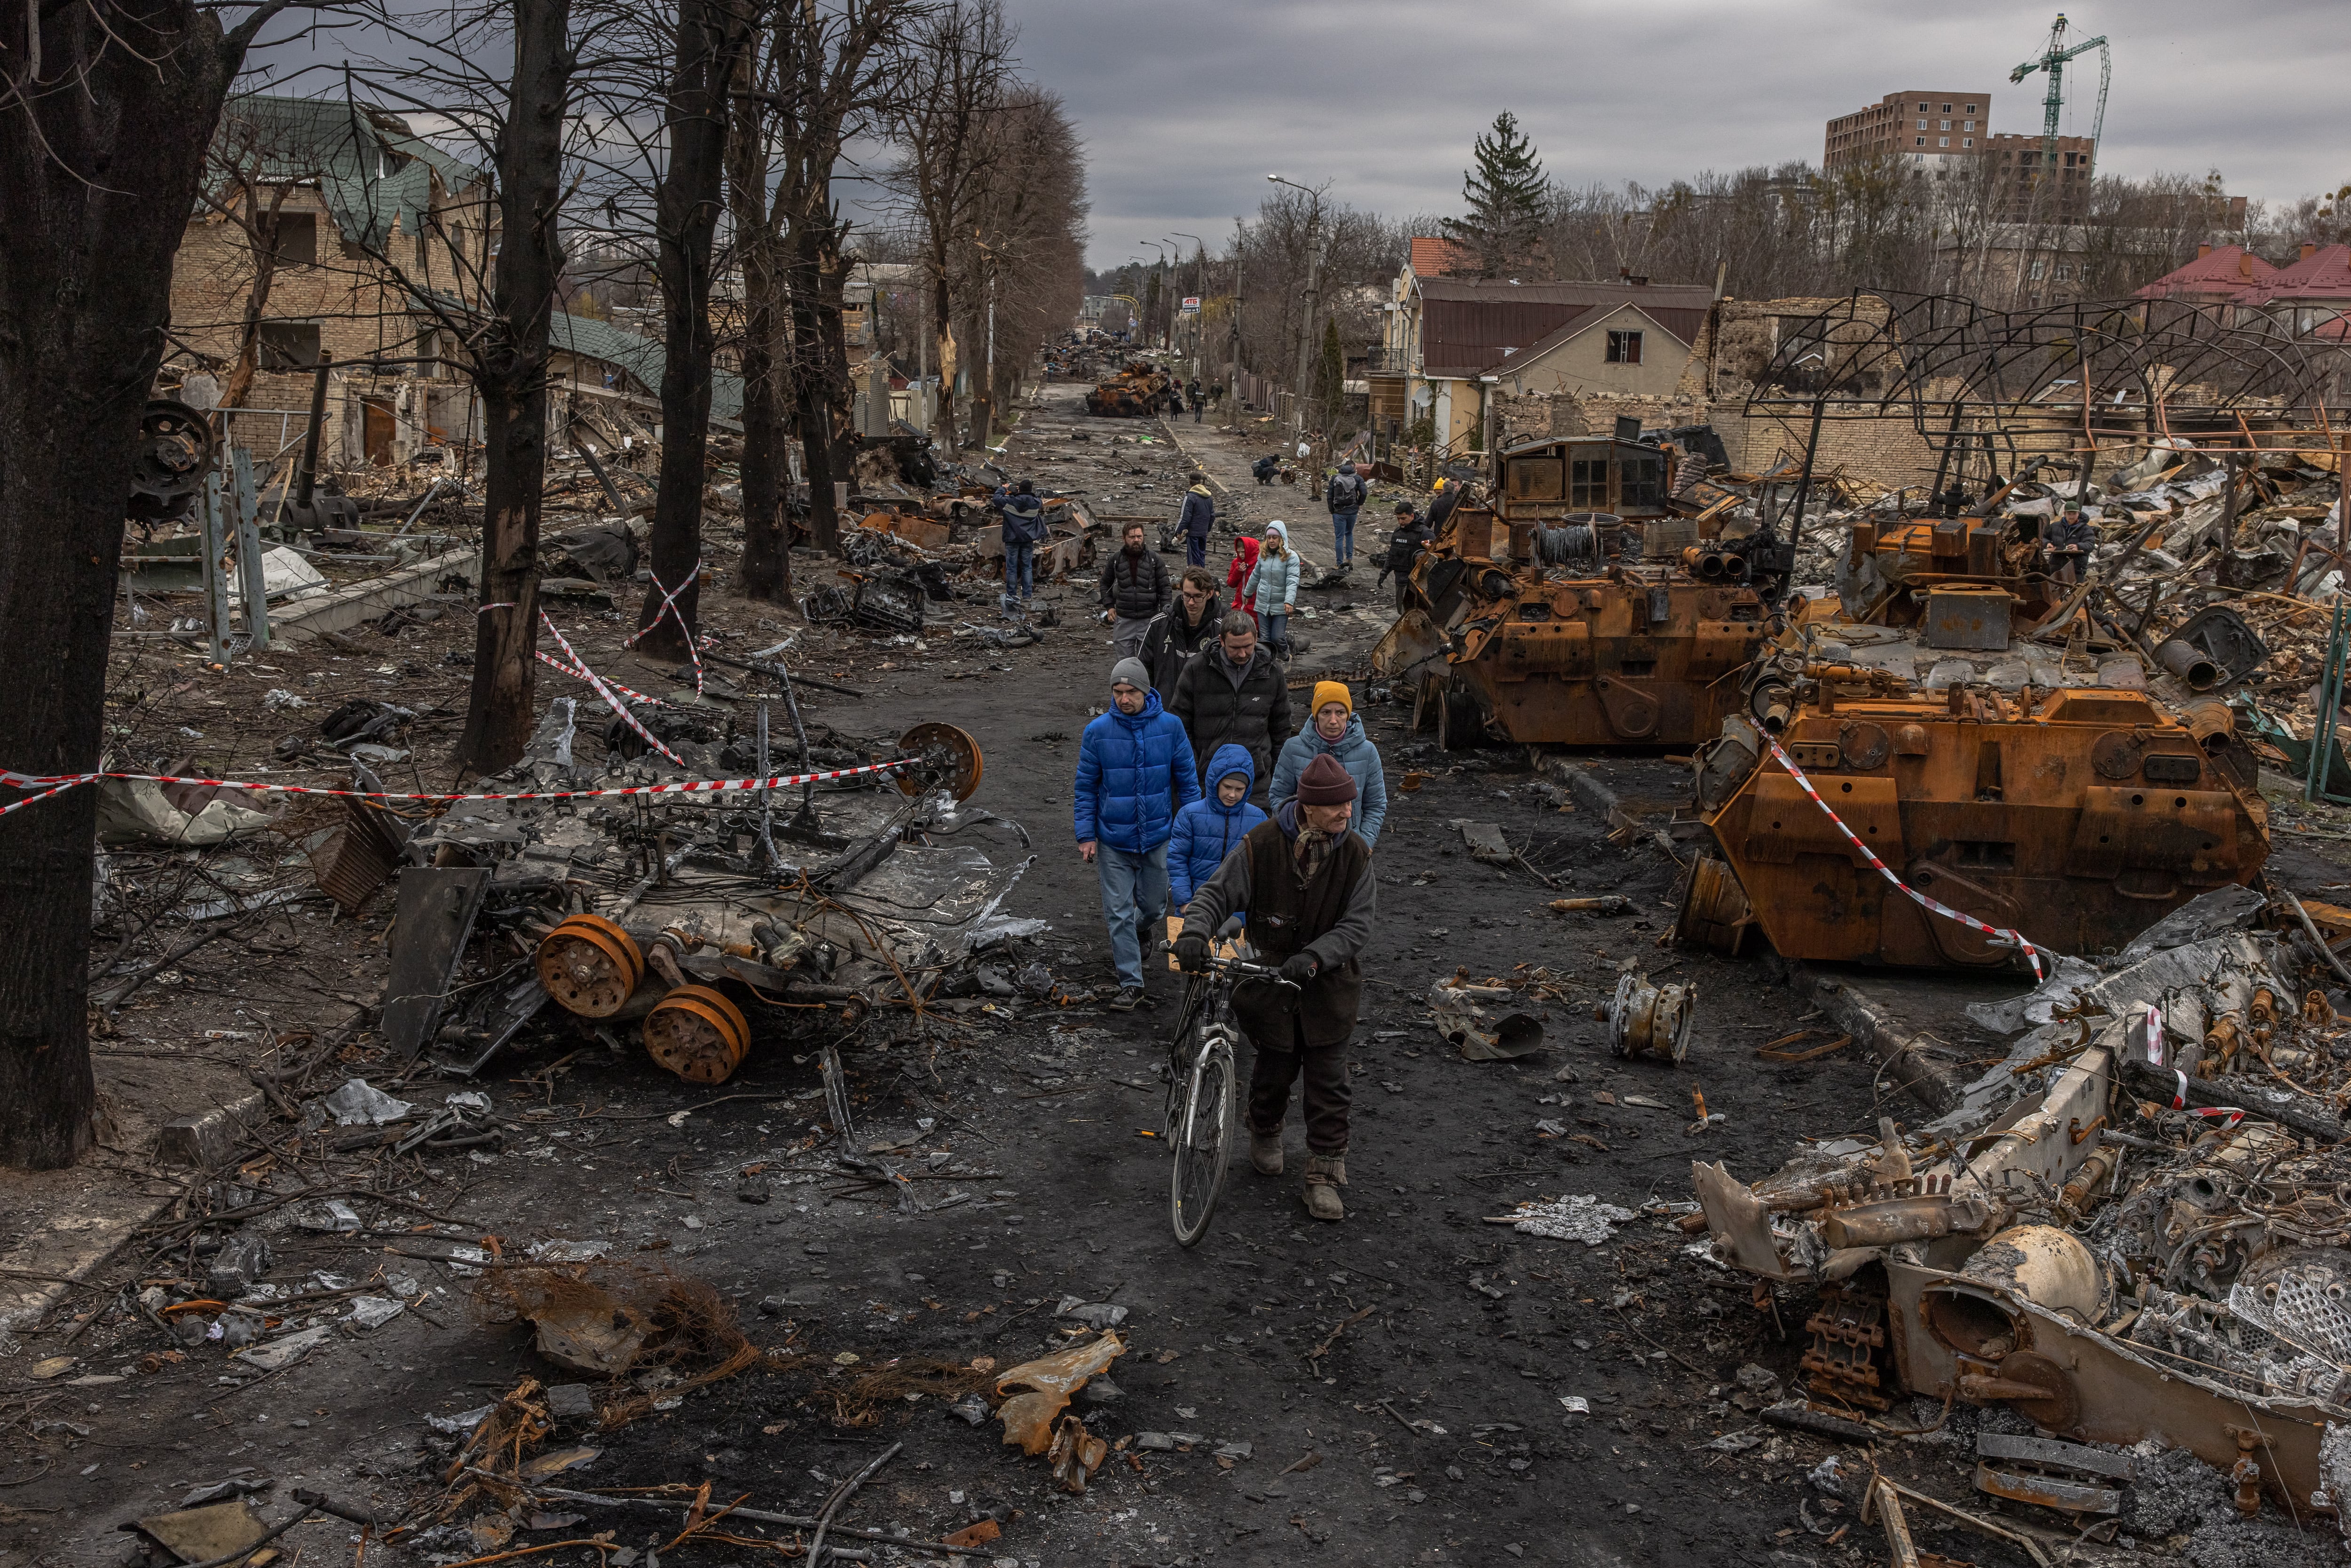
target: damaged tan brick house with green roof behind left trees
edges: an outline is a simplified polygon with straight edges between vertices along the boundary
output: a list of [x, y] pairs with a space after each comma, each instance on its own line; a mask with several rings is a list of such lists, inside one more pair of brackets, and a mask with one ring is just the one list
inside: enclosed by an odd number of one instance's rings
[[[331, 463], [463, 454], [480, 440], [463, 374], [362, 362], [458, 357], [496, 256], [489, 172], [404, 118], [343, 99], [233, 99], [172, 268], [162, 386], [233, 409], [230, 440], [268, 468], [301, 442], [324, 355]], [[552, 425], [621, 407], [658, 435], [661, 343], [560, 313], [552, 348]], [[712, 404], [734, 421], [741, 383], [717, 376]]]

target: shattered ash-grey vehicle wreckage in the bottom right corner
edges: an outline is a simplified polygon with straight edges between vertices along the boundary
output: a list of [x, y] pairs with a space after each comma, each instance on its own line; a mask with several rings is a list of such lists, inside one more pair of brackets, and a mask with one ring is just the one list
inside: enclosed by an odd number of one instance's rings
[[1766, 1422], [1871, 1441], [1886, 1413], [1914, 1425], [1902, 1394], [2008, 1410], [2041, 1434], [2008, 1443], [2118, 1469], [2052, 1486], [1991, 1462], [1977, 1488], [2076, 1523], [2116, 1514], [2116, 1483], [2158, 1448], [2229, 1476], [2245, 1516], [2264, 1497], [2342, 1514], [2351, 1128], [2335, 1095], [2351, 1030], [2299, 910], [2264, 905], [2219, 889], [2104, 976], [2071, 964], [1968, 1009], [1987, 1027], [2048, 1023], [1925, 1126], [1808, 1143], [1754, 1185], [1693, 1166], [1683, 1225], [1714, 1265], [1820, 1291], [1808, 1387]]

